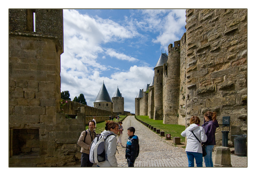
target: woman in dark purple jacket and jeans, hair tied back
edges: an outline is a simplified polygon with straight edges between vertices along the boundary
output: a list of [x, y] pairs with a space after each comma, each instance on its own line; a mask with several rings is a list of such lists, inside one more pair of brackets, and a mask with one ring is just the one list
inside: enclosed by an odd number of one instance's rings
[[217, 121], [217, 113], [216, 112], [206, 112], [204, 113], [204, 124], [202, 127], [205, 130], [207, 141], [203, 142], [203, 144], [206, 144], [206, 153], [207, 155], [204, 156], [204, 163], [206, 167], [213, 167], [212, 163], [212, 150], [214, 148], [214, 145], [216, 145], [215, 141], [215, 131], [216, 128], [219, 127], [218, 121]]

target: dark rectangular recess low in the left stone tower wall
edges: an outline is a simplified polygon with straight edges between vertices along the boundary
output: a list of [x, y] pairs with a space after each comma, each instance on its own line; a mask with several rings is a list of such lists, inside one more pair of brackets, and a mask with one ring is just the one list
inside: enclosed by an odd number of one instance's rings
[[39, 129], [11, 129], [10, 156], [38, 156]]

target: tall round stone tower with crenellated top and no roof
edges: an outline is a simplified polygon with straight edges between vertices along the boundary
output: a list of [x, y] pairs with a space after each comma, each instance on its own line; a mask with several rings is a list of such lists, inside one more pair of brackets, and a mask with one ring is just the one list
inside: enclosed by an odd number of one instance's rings
[[168, 47], [168, 60], [163, 64], [163, 124], [178, 124], [180, 96], [180, 41]]

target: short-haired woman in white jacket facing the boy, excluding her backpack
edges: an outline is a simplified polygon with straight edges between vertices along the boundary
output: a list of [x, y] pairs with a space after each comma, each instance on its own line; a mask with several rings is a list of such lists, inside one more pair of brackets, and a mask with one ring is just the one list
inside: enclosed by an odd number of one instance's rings
[[98, 163], [98, 167], [117, 167], [117, 160], [116, 160], [116, 136], [118, 133], [118, 124], [114, 121], [107, 121], [105, 130], [101, 133], [102, 136], [106, 136], [107, 134], [113, 134], [106, 138], [105, 140], [105, 154], [106, 160]]

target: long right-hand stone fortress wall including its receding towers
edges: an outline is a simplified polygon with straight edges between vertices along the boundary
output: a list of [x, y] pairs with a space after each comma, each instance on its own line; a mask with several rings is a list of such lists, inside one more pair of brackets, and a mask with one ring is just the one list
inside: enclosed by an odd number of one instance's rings
[[[187, 9], [186, 17], [186, 33], [169, 45], [167, 63], [154, 69], [148, 109], [155, 106], [155, 120], [186, 126], [193, 115], [202, 125], [205, 112], [217, 112], [217, 145], [222, 117], [230, 116], [228, 144], [233, 146], [232, 135], [247, 133], [247, 9]], [[136, 114], [141, 111], [135, 106]], [[149, 110], [147, 115], [152, 118]]]

